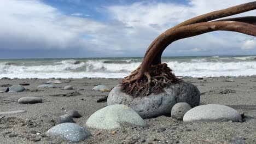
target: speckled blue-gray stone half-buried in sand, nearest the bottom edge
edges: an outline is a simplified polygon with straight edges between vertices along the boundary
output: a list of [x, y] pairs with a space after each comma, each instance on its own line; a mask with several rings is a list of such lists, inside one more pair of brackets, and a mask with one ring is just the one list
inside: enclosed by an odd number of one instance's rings
[[61, 123], [46, 131], [47, 135], [60, 135], [69, 142], [79, 142], [91, 136], [90, 131], [75, 123]]

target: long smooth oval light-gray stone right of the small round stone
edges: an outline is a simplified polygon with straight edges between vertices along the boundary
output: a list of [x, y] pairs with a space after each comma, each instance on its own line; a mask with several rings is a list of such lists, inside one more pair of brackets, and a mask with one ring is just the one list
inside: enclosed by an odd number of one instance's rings
[[221, 122], [227, 119], [232, 122], [239, 122], [242, 119], [240, 113], [231, 107], [225, 105], [200, 105], [185, 113], [183, 117], [184, 123], [197, 122]]

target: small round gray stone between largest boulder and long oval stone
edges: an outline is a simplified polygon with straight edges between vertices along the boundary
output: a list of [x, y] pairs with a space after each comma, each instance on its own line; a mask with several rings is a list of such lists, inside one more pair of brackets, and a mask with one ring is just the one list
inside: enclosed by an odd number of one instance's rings
[[182, 120], [183, 116], [189, 111], [191, 106], [188, 103], [177, 103], [172, 107], [171, 116], [178, 120]]

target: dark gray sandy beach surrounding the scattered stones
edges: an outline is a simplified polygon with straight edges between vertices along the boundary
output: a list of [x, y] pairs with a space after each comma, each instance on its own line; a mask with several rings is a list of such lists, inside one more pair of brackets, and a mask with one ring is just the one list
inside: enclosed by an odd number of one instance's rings
[[[145, 119], [149, 127], [125, 127], [98, 130], [86, 127], [86, 120], [97, 110], [107, 106], [97, 103], [109, 92], [92, 91], [97, 85], [113, 88], [121, 79], [62, 79], [57, 88], [37, 88], [50, 79], [2, 79], [0, 86], [29, 83], [26, 91], [0, 93], [0, 112], [25, 110], [24, 113], [0, 114], [0, 143], [68, 143], [60, 136], [44, 133], [59, 124], [59, 117], [66, 110], [77, 110], [83, 117], [74, 118], [92, 136], [79, 143], [256, 143], [256, 76], [183, 77], [201, 92], [200, 105], [221, 104], [245, 113], [245, 122], [209, 122], [183, 124], [167, 116]], [[74, 90], [62, 90], [71, 85]], [[84, 91], [76, 89], [83, 88]], [[40, 97], [42, 103], [20, 104], [21, 97]], [[67, 97], [68, 96], [68, 97]], [[165, 130], [162, 130], [162, 129]]]

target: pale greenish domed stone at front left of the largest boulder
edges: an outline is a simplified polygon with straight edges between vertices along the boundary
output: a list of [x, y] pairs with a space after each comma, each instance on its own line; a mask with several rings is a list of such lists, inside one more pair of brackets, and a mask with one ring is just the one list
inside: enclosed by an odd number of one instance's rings
[[88, 118], [86, 125], [98, 129], [115, 129], [125, 123], [148, 126], [138, 113], [125, 105], [110, 105], [96, 111]]

